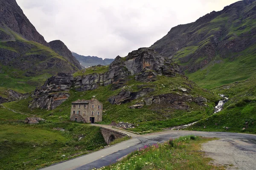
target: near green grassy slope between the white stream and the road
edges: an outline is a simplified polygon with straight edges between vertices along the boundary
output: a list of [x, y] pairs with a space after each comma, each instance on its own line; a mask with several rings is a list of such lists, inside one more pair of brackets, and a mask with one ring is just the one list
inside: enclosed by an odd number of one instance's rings
[[224, 104], [224, 110], [199, 121], [191, 130], [256, 133], [255, 78], [224, 85], [212, 91], [229, 97]]

